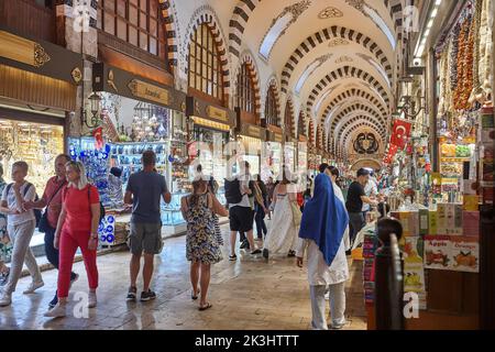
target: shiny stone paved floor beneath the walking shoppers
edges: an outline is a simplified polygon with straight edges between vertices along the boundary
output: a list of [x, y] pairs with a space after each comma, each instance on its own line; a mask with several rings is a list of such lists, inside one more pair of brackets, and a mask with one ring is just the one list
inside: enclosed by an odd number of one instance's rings
[[[222, 231], [227, 237], [227, 227]], [[237, 262], [229, 262], [227, 246], [223, 250], [227, 260], [212, 267], [209, 300], [213, 307], [209, 310], [198, 311], [198, 302], [190, 299], [185, 237], [180, 237], [166, 240], [155, 260], [152, 287], [158, 295], [156, 300], [125, 302], [130, 254], [112, 253], [98, 257], [98, 307], [89, 310], [88, 318], [43, 317], [56, 285], [57, 272], [48, 271], [43, 273], [45, 286], [33, 295], [22, 294], [31, 278], [20, 280], [12, 306], [0, 308], [0, 329], [309, 329], [307, 274], [296, 266], [295, 258], [271, 258], [266, 263], [261, 255], [252, 257], [241, 251]], [[366, 329], [361, 266], [361, 262], [350, 262], [346, 330]], [[72, 288], [73, 301], [78, 292], [87, 292], [84, 264], [76, 263], [74, 268], [81, 275]]]

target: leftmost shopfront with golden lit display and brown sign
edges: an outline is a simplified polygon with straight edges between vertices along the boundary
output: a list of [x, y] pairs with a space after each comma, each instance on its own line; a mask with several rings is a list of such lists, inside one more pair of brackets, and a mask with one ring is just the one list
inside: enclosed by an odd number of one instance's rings
[[[76, 110], [82, 58], [52, 43], [0, 25], [0, 164], [7, 183], [11, 165], [29, 164], [38, 195], [65, 152], [68, 116]], [[35, 232], [31, 245], [43, 243]]]

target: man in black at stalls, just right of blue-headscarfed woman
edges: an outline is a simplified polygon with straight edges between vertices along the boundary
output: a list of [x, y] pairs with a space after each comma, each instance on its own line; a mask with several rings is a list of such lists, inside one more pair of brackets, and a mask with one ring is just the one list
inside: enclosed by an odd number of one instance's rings
[[[360, 168], [358, 170], [358, 179], [349, 186], [348, 200], [345, 201], [345, 208], [349, 212], [349, 227], [351, 230], [351, 248], [354, 243], [355, 235], [366, 224], [364, 220], [363, 202], [369, 205], [376, 205], [376, 202], [364, 193], [364, 185], [366, 185], [370, 178], [370, 172], [365, 168]], [[348, 253], [350, 254], [350, 253]]]

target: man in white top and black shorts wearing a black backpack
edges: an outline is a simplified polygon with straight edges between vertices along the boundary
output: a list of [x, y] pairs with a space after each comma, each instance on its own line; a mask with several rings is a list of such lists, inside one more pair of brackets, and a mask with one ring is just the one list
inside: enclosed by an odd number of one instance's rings
[[254, 213], [251, 207], [250, 195], [253, 194], [250, 187], [251, 175], [250, 164], [241, 162], [241, 173], [233, 179], [226, 179], [226, 198], [229, 204], [230, 219], [230, 261], [235, 261], [235, 241], [238, 232], [246, 232], [250, 243], [251, 254], [260, 254], [261, 250], [255, 249], [253, 238]]

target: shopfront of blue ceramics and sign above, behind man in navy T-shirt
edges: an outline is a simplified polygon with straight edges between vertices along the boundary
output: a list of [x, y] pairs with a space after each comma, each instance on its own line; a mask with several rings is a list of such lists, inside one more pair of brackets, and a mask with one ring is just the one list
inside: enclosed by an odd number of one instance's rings
[[[182, 226], [180, 197], [190, 190], [186, 95], [105, 63], [95, 64], [92, 72], [89, 99], [100, 105], [99, 123], [88, 125], [94, 129], [91, 136], [69, 139], [69, 153], [85, 164], [98, 187], [107, 212], [102, 228], [114, 224], [114, 233], [106, 233], [110, 240], [102, 244], [125, 240], [121, 228], [129, 222], [129, 215], [122, 195], [130, 175], [142, 169], [141, 156], [146, 150], [156, 153], [156, 170], [166, 177], [173, 194], [170, 204], [162, 204], [162, 222]], [[112, 167], [121, 170], [119, 178], [110, 176]]]

